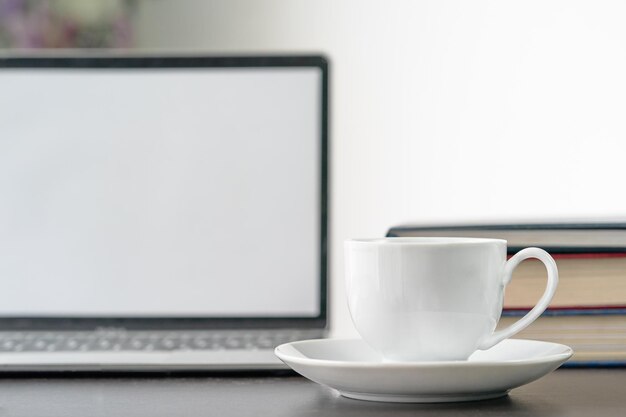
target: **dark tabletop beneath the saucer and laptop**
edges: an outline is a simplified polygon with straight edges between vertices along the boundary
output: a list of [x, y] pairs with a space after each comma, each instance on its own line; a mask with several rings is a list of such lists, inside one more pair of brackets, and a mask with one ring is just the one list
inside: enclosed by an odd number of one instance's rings
[[561, 369], [508, 397], [351, 400], [295, 375], [0, 378], [0, 416], [626, 416], [626, 369]]

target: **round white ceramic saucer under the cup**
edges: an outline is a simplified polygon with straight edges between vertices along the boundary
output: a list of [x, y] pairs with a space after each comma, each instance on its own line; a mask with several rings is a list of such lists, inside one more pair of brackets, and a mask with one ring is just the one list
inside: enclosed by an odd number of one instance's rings
[[369, 401], [454, 402], [506, 395], [549, 374], [572, 356], [556, 343], [509, 339], [467, 361], [383, 362], [362, 340], [318, 339], [286, 343], [275, 350], [296, 372]]

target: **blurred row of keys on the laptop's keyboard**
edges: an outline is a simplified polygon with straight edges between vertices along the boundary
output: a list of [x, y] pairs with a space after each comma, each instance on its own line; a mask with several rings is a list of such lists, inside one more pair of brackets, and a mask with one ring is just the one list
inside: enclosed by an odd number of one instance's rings
[[310, 333], [298, 331], [0, 332], [0, 352], [258, 350], [310, 338]]

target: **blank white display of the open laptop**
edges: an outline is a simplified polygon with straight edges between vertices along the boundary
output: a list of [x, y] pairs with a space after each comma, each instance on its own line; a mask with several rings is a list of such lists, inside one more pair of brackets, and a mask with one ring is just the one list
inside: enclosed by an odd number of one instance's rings
[[317, 316], [320, 70], [0, 71], [0, 315]]

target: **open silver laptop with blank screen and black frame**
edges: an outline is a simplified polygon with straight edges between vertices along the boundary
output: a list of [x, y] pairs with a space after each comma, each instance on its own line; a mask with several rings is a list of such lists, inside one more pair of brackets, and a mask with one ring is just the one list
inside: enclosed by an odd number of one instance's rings
[[327, 327], [321, 56], [0, 58], [0, 371], [281, 369]]

